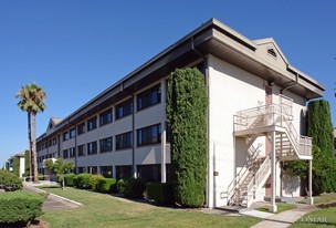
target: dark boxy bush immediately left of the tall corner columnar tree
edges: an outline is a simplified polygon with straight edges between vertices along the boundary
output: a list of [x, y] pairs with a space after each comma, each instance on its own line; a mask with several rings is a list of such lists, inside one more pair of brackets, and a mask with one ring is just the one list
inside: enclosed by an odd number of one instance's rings
[[158, 204], [174, 203], [172, 184], [170, 183], [148, 183], [146, 184], [148, 199]]

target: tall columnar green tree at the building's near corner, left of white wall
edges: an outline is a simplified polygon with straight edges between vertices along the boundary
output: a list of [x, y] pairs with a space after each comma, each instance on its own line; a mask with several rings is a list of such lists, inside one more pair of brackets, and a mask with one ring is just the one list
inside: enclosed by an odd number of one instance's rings
[[207, 105], [204, 76], [197, 69], [171, 73], [166, 111], [171, 134], [175, 198], [183, 207], [200, 207], [204, 203]]

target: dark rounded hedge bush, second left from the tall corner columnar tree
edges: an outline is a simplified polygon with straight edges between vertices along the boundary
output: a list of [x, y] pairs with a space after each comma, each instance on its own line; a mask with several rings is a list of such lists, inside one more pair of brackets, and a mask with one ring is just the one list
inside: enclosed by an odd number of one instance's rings
[[144, 179], [127, 178], [119, 179], [117, 183], [117, 190], [125, 197], [143, 198], [146, 189]]

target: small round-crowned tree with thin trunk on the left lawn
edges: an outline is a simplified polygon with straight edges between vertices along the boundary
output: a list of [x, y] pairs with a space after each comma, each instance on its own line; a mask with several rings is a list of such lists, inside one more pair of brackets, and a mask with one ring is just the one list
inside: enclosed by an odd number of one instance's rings
[[67, 174], [74, 169], [73, 162], [64, 163], [62, 158], [57, 158], [55, 162], [53, 159], [46, 159], [44, 162], [44, 166], [53, 173], [60, 175], [62, 180], [62, 189], [64, 190], [64, 174]]

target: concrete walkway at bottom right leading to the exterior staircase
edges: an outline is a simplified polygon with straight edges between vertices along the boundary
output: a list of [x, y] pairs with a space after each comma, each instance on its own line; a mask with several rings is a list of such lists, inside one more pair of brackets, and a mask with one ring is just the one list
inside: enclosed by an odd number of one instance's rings
[[[300, 208], [286, 210], [280, 214], [272, 215], [267, 218], [263, 218], [264, 220], [252, 226], [251, 228], [285, 228], [290, 227], [292, 224], [297, 221], [304, 215], [309, 214], [317, 208], [311, 205], [302, 205]], [[255, 210], [254, 210], [255, 211]], [[249, 216], [253, 216], [249, 215]]]

